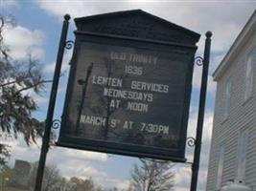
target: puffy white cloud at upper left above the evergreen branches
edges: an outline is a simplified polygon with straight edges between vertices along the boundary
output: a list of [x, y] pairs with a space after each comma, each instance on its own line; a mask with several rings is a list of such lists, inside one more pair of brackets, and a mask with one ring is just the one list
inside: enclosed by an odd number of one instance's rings
[[44, 34], [22, 26], [8, 26], [3, 32], [4, 43], [10, 48], [12, 58], [25, 59], [28, 53], [36, 58], [44, 57], [42, 49]]

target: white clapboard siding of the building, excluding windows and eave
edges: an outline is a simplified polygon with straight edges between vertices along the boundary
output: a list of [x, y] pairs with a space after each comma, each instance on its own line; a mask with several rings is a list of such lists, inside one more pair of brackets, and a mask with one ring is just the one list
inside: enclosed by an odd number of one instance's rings
[[[221, 75], [217, 85], [213, 138], [208, 167], [207, 191], [216, 190], [217, 169], [221, 143], [225, 142], [222, 185], [237, 177], [239, 137], [243, 129], [248, 131], [245, 182], [256, 191], [256, 51], [254, 51], [252, 72], [252, 96], [244, 102], [246, 55], [256, 47], [256, 32], [246, 42], [246, 46]], [[255, 49], [254, 49], [255, 50]], [[225, 120], [225, 82], [232, 76], [230, 113]]]

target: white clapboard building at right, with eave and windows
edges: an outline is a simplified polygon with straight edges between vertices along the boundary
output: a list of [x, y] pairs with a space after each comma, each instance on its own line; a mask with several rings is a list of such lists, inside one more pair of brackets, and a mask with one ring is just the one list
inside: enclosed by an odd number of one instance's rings
[[220, 66], [207, 191], [241, 179], [256, 191], [256, 11]]

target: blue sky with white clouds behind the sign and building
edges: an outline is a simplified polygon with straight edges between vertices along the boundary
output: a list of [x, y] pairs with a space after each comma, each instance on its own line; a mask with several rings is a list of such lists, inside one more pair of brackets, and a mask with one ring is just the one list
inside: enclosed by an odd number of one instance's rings
[[[9, 45], [12, 56], [16, 59], [26, 59], [27, 53], [33, 53], [40, 63], [42, 73], [47, 79], [52, 79], [58, 51], [58, 41], [63, 15], [71, 15], [68, 39], [74, 40], [73, 31], [75, 17], [105, 13], [109, 11], [128, 11], [141, 9], [164, 18], [201, 34], [198, 42], [197, 55], [203, 54], [204, 33], [213, 32], [212, 50], [202, 150], [198, 179], [198, 190], [205, 190], [207, 179], [208, 156], [211, 143], [212, 121], [214, 113], [216, 84], [211, 74], [220, 64], [235, 38], [243, 29], [246, 21], [256, 7], [256, 1], [164, 1], [164, 0], [0, 0], [0, 14], [11, 15], [16, 25], [4, 32], [5, 42]], [[72, 50], [65, 51], [62, 63], [62, 77], [58, 87], [58, 99], [55, 118], [62, 113], [63, 97], [65, 95], [68, 62]], [[193, 94], [190, 106], [188, 137], [195, 138], [198, 117], [198, 96], [200, 87], [201, 67], [196, 66], [193, 77]], [[49, 100], [50, 86], [40, 95], [33, 95], [39, 108], [35, 117], [44, 120]], [[32, 94], [28, 92], [28, 94]], [[40, 140], [37, 144], [27, 147], [22, 138], [2, 139], [12, 146], [12, 158], [36, 161], [39, 159]], [[193, 160], [193, 148], [187, 147], [186, 158]], [[78, 151], [53, 146], [47, 156], [48, 164], [56, 164], [63, 176], [81, 178], [91, 177], [104, 186], [126, 188], [132, 166], [138, 159], [108, 155], [104, 153]], [[176, 163], [175, 191], [187, 191], [190, 187], [191, 165]]]

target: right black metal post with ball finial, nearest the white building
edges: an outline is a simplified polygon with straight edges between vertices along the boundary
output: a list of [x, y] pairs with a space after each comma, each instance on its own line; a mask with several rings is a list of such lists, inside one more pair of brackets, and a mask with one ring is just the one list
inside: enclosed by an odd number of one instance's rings
[[203, 117], [204, 117], [205, 100], [206, 100], [212, 32], [206, 32], [205, 35], [206, 35], [206, 40], [205, 40], [205, 46], [204, 46], [203, 66], [202, 66], [202, 76], [201, 76], [201, 89], [200, 89], [199, 110], [198, 110], [198, 127], [197, 127], [197, 137], [196, 137], [196, 145], [195, 145], [196, 147], [194, 151], [194, 161], [192, 164], [192, 179], [191, 179], [191, 187], [190, 187], [191, 191], [196, 191], [197, 185], [198, 185], [198, 169], [199, 169], [199, 160], [200, 160], [201, 137], [202, 137]]

